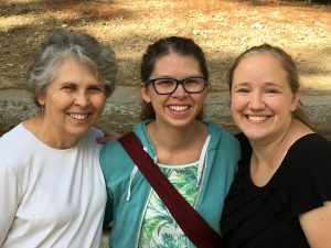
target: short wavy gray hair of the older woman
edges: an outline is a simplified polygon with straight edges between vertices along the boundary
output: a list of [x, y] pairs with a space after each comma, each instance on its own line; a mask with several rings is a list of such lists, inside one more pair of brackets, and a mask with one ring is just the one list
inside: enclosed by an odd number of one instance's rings
[[117, 76], [114, 51], [89, 34], [57, 31], [43, 43], [28, 71], [28, 89], [36, 106], [40, 107], [38, 97], [56, 79], [58, 65], [70, 56], [75, 56], [95, 73], [99, 82], [105, 84], [107, 97], [114, 93]]

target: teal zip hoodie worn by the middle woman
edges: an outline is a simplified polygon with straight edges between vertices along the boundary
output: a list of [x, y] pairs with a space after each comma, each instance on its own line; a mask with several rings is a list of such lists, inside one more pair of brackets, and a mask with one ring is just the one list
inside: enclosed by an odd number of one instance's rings
[[[149, 121], [151, 120], [136, 125], [134, 132], [153, 159], [154, 147], [146, 129]], [[211, 140], [194, 208], [221, 234], [220, 219], [224, 198], [236, 173], [241, 151], [238, 141], [232, 134], [214, 122], [205, 123], [209, 126]], [[113, 220], [109, 245], [113, 248], [136, 248], [151, 186], [116, 140], [104, 145], [100, 164], [108, 192], [105, 223]], [[189, 241], [189, 247], [195, 246]]]

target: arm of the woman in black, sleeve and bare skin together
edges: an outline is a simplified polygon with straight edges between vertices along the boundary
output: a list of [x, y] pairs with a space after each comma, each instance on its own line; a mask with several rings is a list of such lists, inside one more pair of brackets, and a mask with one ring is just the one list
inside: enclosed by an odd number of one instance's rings
[[298, 216], [312, 248], [331, 244], [331, 142], [320, 136], [303, 137], [292, 147], [290, 213]]

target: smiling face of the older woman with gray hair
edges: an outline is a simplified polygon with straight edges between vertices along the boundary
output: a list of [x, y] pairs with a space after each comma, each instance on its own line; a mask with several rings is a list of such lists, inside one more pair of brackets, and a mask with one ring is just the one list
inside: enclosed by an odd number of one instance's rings
[[58, 65], [56, 75], [46, 93], [38, 98], [44, 106], [42, 128], [47, 130], [49, 140], [75, 143], [100, 116], [106, 100], [105, 86], [74, 56]]

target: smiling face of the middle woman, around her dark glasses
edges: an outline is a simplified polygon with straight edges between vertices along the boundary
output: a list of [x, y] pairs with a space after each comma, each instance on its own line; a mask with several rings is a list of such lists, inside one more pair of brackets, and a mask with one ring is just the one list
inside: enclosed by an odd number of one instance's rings
[[[149, 79], [159, 77], [182, 79], [189, 76], [202, 76], [197, 61], [193, 56], [170, 53], [157, 60]], [[157, 122], [177, 127], [184, 127], [195, 120], [206, 96], [206, 88], [199, 94], [188, 94], [182, 85], [179, 85], [171, 95], [157, 94], [152, 85], [141, 87], [141, 97], [152, 104]]]

